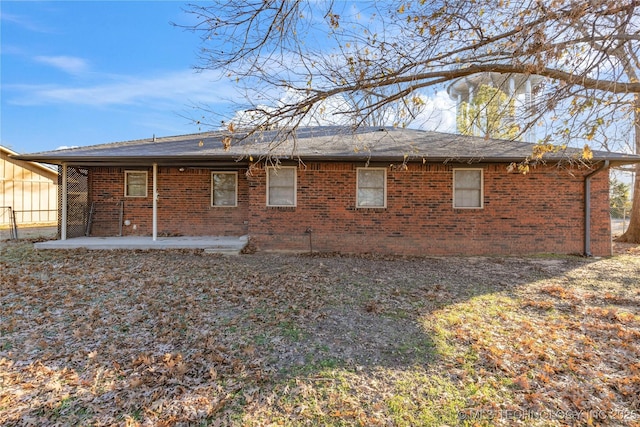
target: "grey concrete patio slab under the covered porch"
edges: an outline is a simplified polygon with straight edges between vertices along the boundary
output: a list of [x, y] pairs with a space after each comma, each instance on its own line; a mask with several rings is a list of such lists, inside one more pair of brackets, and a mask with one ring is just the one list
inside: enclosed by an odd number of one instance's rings
[[207, 253], [237, 255], [247, 245], [248, 236], [180, 237], [74, 237], [67, 240], [37, 242], [35, 249], [204, 249]]

